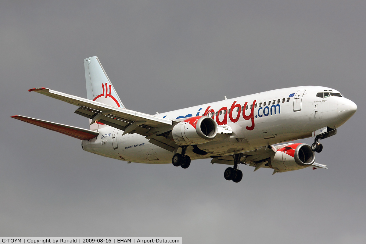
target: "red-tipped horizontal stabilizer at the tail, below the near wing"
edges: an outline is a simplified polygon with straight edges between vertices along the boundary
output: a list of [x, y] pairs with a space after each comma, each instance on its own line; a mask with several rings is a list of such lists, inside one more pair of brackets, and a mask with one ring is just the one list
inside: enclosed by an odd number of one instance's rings
[[14, 118], [17, 120], [22, 120], [22, 121], [30, 123], [30, 124], [38, 125], [40, 127], [46, 128], [46, 129], [51, 129], [51, 131], [57, 131], [62, 134], [65, 134], [65, 135], [78, 138], [80, 140], [90, 140], [99, 134], [99, 132], [91, 131], [89, 129], [83, 129], [83, 128], [78, 128], [78, 127], [74, 127], [74, 126], [70, 126], [70, 125], [53, 123], [53, 122], [49, 122], [49, 121], [45, 121], [45, 120], [33, 119], [33, 118], [25, 117], [25, 116], [15, 115], [15, 116], [11, 116], [11, 118]]

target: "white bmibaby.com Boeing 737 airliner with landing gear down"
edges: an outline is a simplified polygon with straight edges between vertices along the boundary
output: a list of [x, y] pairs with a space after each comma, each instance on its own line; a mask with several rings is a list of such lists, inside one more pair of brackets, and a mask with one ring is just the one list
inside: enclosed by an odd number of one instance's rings
[[[105, 157], [188, 168], [191, 159], [211, 158], [232, 165], [224, 178], [238, 183], [238, 165], [287, 172], [311, 167], [319, 140], [337, 133], [357, 110], [339, 91], [322, 86], [298, 86], [265, 91], [171, 112], [148, 115], [127, 109], [97, 57], [84, 60], [87, 99], [44, 87], [30, 89], [76, 105], [89, 118], [90, 129], [11, 116], [30, 124], [81, 139], [82, 149]], [[306, 143], [286, 143], [314, 137]], [[285, 143], [274, 145], [278, 143]]]

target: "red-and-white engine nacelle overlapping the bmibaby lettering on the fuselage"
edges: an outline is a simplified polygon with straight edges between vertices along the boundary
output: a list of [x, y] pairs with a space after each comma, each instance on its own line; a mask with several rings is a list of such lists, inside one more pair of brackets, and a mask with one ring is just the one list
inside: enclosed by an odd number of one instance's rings
[[183, 120], [173, 127], [171, 137], [178, 145], [202, 144], [217, 135], [217, 125], [211, 117], [195, 116]]

